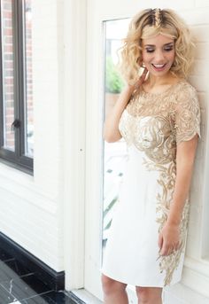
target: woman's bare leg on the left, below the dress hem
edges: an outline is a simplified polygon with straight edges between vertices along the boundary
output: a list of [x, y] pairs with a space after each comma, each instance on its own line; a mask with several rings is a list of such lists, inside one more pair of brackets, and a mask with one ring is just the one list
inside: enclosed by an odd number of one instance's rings
[[128, 304], [127, 284], [102, 275], [104, 304]]

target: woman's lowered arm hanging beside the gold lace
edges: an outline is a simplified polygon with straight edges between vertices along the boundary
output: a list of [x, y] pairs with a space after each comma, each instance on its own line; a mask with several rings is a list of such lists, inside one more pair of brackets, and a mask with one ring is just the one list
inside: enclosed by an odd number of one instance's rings
[[197, 134], [189, 141], [177, 145], [176, 178], [174, 184], [173, 203], [166, 224], [159, 234], [160, 254], [167, 255], [180, 246], [180, 222], [182, 210], [190, 190], [195, 154], [197, 150]]

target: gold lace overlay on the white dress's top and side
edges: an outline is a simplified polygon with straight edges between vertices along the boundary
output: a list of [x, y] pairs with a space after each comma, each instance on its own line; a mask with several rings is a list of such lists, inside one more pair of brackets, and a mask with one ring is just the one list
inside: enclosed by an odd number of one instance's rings
[[[128, 146], [144, 153], [143, 166], [158, 171], [156, 222], [163, 229], [172, 204], [176, 176], [177, 144], [200, 136], [200, 108], [196, 90], [186, 81], [174, 84], [161, 94], [138, 90], [121, 115], [119, 129]], [[168, 256], [160, 256], [159, 271], [165, 271], [164, 286], [172, 281], [185, 249], [190, 204], [186, 199], [180, 224], [181, 246]]]

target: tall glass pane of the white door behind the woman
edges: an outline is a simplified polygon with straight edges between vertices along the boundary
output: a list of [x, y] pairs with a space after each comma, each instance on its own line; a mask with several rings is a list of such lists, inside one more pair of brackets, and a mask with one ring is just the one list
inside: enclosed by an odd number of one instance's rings
[[[104, 22], [105, 29], [105, 116], [112, 110], [123, 81], [117, 70], [117, 50], [121, 39], [127, 34], [129, 19], [118, 19]], [[127, 146], [123, 139], [116, 143], [104, 142], [104, 214], [103, 214], [103, 249], [108, 238], [112, 222], [112, 212], [118, 204], [118, 192], [127, 161]]]

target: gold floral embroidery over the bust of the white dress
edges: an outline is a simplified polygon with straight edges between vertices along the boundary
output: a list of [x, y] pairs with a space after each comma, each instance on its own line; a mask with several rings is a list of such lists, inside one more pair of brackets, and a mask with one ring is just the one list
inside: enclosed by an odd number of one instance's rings
[[145, 152], [153, 161], [163, 164], [175, 159], [174, 130], [169, 117], [163, 115], [133, 117], [123, 113], [120, 132], [128, 145]]

